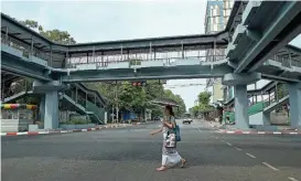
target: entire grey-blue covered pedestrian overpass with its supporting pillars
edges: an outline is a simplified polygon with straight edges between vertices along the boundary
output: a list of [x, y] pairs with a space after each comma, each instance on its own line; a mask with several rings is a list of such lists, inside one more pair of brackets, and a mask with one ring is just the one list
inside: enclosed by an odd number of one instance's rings
[[216, 34], [74, 45], [51, 42], [2, 13], [1, 21], [1, 70], [36, 79], [49, 128], [57, 125], [57, 92], [69, 83], [208, 77], [235, 87], [243, 129], [249, 124], [247, 85], [286, 82], [292, 126], [301, 126], [301, 50], [288, 45], [301, 32], [301, 2], [235, 2], [226, 30]]

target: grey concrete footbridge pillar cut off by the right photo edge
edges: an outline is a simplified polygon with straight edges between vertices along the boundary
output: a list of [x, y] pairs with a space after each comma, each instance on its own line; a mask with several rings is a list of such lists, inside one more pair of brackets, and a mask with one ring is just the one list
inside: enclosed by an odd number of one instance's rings
[[301, 84], [288, 84], [288, 89], [291, 127], [301, 129]]

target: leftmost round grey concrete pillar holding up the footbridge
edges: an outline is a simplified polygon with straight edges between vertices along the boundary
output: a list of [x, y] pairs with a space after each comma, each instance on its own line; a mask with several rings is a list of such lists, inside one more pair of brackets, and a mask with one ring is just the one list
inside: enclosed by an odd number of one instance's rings
[[45, 94], [44, 129], [58, 128], [58, 93], [57, 91]]

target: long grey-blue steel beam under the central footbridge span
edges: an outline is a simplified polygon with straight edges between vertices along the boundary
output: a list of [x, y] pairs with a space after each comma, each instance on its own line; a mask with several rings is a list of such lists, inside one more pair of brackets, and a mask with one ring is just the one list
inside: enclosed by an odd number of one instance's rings
[[179, 79], [179, 78], [208, 78], [222, 77], [226, 73], [233, 72], [227, 63], [214, 66], [211, 65], [179, 65], [171, 67], [143, 67], [135, 73], [132, 68], [122, 70], [93, 70], [76, 71], [69, 75], [62, 75], [65, 83], [73, 82], [97, 82], [97, 81], [131, 81], [131, 79]]

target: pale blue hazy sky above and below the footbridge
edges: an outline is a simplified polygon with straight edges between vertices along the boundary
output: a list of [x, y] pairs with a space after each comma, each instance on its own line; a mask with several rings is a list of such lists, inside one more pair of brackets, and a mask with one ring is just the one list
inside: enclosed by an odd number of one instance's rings
[[[35, 20], [44, 29], [68, 31], [78, 43], [203, 34], [205, 0], [2, 1], [2, 12]], [[294, 40], [301, 46], [301, 36]], [[205, 84], [205, 79], [169, 81], [168, 85]], [[205, 86], [171, 88], [194, 106]]]

